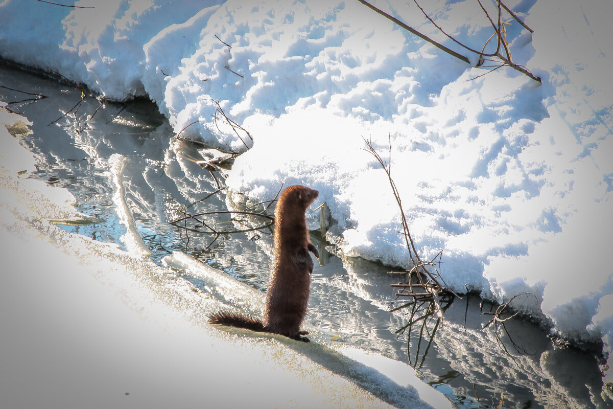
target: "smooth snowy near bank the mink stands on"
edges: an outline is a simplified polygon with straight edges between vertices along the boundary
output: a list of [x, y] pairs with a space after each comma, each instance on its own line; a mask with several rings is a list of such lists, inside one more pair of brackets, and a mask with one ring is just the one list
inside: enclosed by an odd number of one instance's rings
[[[191, 291], [175, 270], [50, 223], [86, 216], [66, 189], [27, 177], [34, 158], [4, 129], [15, 121], [27, 124], [0, 111], [4, 405], [391, 407], [373, 395], [383, 393], [395, 407], [450, 407], [413, 369], [379, 354], [212, 327], [207, 313], [221, 301]], [[172, 259], [175, 269], [198, 264]], [[223, 273], [208, 279], [221, 288]], [[224, 283], [232, 294], [246, 288]], [[326, 367], [330, 360], [341, 367]]]

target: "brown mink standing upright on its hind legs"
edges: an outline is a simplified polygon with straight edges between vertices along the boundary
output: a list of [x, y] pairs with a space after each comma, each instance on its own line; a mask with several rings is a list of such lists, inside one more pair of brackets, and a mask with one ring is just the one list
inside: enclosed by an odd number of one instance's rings
[[309, 342], [308, 332], [300, 331], [307, 304], [310, 274], [313, 272], [311, 251], [319, 253], [311, 240], [305, 211], [319, 192], [306, 186], [286, 188], [275, 207], [275, 250], [270, 285], [266, 294], [264, 319], [219, 312], [209, 318], [212, 324], [240, 327], [260, 332], [272, 332]]

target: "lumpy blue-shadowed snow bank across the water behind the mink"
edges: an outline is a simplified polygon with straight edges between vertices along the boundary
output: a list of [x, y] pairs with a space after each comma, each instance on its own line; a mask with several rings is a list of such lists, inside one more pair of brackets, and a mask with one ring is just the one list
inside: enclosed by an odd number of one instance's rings
[[[413, 3], [391, 3], [373, 1], [457, 49]], [[508, 39], [542, 85], [506, 67], [478, 77], [356, 1], [5, 1], [0, 55], [115, 99], [148, 95], [181, 136], [244, 152], [234, 191], [318, 189], [343, 253], [408, 266], [386, 175], [363, 150], [371, 139], [387, 157], [390, 142], [417, 248], [444, 251], [447, 284], [500, 301], [533, 292], [519, 307], [609, 346], [613, 5], [530, 4], [508, 2], [535, 34], [513, 22]], [[427, 11], [475, 48], [491, 34], [476, 2]], [[215, 122], [214, 101], [253, 142]]]

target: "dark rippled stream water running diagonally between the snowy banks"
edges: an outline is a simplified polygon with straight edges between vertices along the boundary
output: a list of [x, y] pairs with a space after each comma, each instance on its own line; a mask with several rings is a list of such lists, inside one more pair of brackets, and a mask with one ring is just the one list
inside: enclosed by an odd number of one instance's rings
[[[270, 229], [213, 232], [264, 226], [265, 218], [242, 223], [218, 213], [171, 223], [188, 214], [229, 210], [224, 170], [211, 172], [196, 162], [221, 155], [218, 151], [173, 137], [150, 101], [101, 106], [87, 94], [82, 99], [74, 85], [2, 65], [0, 86], [0, 101], [11, 102], [10, 110], [32, 121], [32, 134], [21, 137], [38, 158], [32, 176], [69, 189], [78, 210], [97, 217], [97, 223], [64, 229], [131, 251], [122, 239], [130, 227], [120, 223], [113, 199], [122, 194], [151, 259], [160, 262], [172, 251], [183, 251], [265, 291]], [[325, 247], [316, 234], [313, 241]], [[389, 286], [399, 275], [363, 259], [326, 255], [326, 264], [313, 272], [308, 323], [339, 342], [408, 362], [456, 407], [612, 407], [603, 397], [597, 354], [554, 342], [546, 329], [520, 317], [498, 332], [493, 325], [483, 329], [495, 306], [476, 295], [447, 305], [444, 321], [424, 318], [427, 305], [390, 312], [401, 305]], [[199, 285], [196, 278], [185, 279]]]

